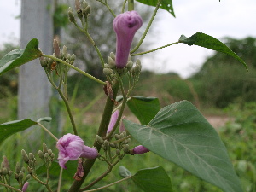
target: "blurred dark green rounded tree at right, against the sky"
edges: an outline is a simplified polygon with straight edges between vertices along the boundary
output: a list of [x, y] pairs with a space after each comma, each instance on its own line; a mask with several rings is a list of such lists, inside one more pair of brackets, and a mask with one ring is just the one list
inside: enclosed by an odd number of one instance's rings
[[216, 107], [224, 108], [231, 102], [255, 102], [256, 38], [225, 38], [225, 41], [247, 63], [249, 72], [229, 55], [218, 52], [209, 56], [191, 79], [197, 82], [201, 99]]

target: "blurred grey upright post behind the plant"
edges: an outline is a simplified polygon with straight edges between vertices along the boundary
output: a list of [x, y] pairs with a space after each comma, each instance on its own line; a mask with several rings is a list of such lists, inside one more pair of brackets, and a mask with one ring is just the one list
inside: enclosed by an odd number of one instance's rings
[[[21, 3], [20, 46], [25, 48], [32, 38], [38, 38], [44, 53], [52, 51], [52, 16], [50, 0]], [[49, 113], [50, 86], [38, 60], [20, 67], [19, 73], [19, 119], [37, 119]]]

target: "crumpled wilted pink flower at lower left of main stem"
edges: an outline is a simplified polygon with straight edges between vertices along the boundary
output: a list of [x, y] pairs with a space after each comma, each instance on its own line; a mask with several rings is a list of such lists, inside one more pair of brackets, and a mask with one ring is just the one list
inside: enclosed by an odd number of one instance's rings
[[98, 156], [95, 148], [87, 147], [79, 136], [70, 133], [61, 137], [56, 147], [59, 149], [59, 164], [64, 169], [68, 160], [78, 160], [79, 157], [95, 159]]

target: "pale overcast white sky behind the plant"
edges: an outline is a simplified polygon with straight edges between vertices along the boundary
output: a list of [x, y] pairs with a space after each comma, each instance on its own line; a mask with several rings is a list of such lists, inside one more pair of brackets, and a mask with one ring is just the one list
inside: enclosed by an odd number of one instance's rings
[[[0, 0], [0, 47], [9, 41], [19, 41], [20, 0]], [[176, 18], [166, 10], [160, 9], [157, 22], [152, 27], [156, 34], [152, 38], [152, 49], [177, 42], [184, 34], [190, 37], [195, 32], [203, 32], [222, 40], [224, 37], [256, 38], [256, 1], [255, 0], [172, 0]], [[139, 10], [137, 10], [139, 12]], [[144, 24], [146, 25], [146, 24]], [[179, 73], [183, 78], [189, 77], [198, 70], [206, 57], [213, 51], [198, 46], [176, 44], [160, 49], [150, 55], [154, 61], [142, 55], [143, 67], [157, 73]]]

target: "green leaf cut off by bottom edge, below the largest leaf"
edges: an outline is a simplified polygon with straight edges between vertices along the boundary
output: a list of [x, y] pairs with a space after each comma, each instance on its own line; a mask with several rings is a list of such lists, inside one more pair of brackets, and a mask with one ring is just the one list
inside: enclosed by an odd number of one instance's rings
[[161, 166], [139, 170], [131, 179], [146, 192], [172, 192], [171, 179]]

